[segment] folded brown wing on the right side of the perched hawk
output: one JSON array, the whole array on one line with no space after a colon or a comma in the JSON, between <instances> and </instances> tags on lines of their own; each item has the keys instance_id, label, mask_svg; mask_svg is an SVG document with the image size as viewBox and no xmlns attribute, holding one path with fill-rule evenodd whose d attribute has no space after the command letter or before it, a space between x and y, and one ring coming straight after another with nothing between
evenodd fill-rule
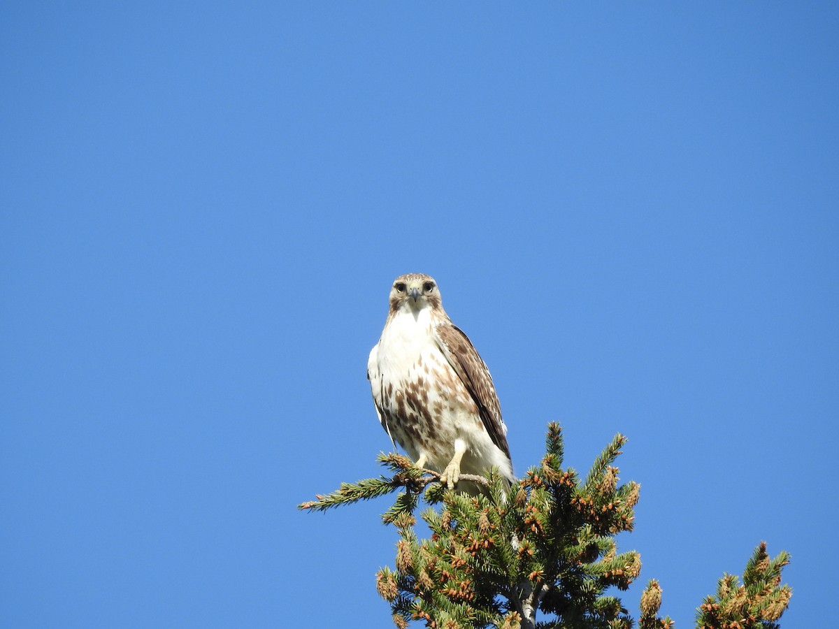
<instances>
[{"instance_id":1,"label":"folded brown wing on the right side of the perched hawk","mask_svg":"<svg viewBox=\"0 0 839 629\"><path fill-rule=\"evenodd\" d=\"M496 444L509 459L507 430L501 419L501 405L498 403L495 387L492 386L492 376L489 375L487 364L481 356L478 356L469 337L451 322L436 325L435 334L440 351L446 356L446 360L475 400L483 426L487 429L492 443Z\"/></svg>"}]
</instances>

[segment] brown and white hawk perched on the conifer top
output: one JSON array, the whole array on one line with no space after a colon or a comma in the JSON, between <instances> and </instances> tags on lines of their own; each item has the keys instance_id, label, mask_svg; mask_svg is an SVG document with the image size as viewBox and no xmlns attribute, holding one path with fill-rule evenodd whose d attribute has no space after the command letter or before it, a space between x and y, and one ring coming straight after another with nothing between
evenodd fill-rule
<instances>
[{"instance_id":1,"label":"brown and white hawk perched on the conifer top","mask_svg":"<svg viewBox=\"0 0 839 629\"><path fill-rule=\"evenodd\" d=\"M487 365L451 323L434 278L400 275L367 378L383 428L419 467L451 488L464 474L498 467L510 483L507 427ZM473 483L460 489L475 493Z\"/></svg>"}]
</instances>

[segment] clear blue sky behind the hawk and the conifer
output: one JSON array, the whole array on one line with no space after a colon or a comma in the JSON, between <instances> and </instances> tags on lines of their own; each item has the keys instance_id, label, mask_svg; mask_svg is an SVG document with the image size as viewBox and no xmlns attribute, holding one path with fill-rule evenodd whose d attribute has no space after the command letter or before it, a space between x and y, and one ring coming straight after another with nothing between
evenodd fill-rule
<instances>
[{"instance_id":1,"label":"clear blue sky behind the hawk and the conifer","mask_svg":"<svg viewBox=\"0 0 839 629\"><path fill-rule=\"evenodd\" d=\"M515 470L617 432L677 627L836 563L835 3L0 8L0 626L390 626L365 378L440 283ZM830 590L828 590L830 588ZM640 590L625 595L637 610Z\"/></svg>"}]
</instances>

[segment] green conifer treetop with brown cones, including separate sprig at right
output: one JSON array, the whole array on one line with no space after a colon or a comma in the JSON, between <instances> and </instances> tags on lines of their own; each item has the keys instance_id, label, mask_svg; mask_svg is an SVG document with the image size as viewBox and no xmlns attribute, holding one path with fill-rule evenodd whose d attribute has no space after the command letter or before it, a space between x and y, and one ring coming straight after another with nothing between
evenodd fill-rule
<instances>
[{"instance_id":1,"label":"green conifer treetop with brown cones, including separate sprig at right","mask_svg":"<svg viewBox=\"0 0 839 629\"><path fill-rule=\"evenodd\" d=\"M631 629L633 617L612 586L626 590L638 577L636 551L618 552L615 537L631 531L639 486L618 482L612 463L626 439L616 435L585 477L564 468L558 424L549 424L541 464L513 486L494 472L488 478L461 475L482 493L448 490L439 475L422 470L402 455L379 455L392 473L342 483L300 508L331 507L398 492L383 522L399 533L395 569L376 574L376 589L391 607L399 629L420 621L435 629ZM430 537L420 539L416 513ZM780 585L789 563L783 551L769 558L766 544L755 549L743 584L726 574L715 595L697 609L701 629L774 629L789 605L792 590ZM638 629L670 627L659 616L662 590L649 580L640 600ZM537 611L539 617L537 618Z\"/></svg>"}]
</instances>

